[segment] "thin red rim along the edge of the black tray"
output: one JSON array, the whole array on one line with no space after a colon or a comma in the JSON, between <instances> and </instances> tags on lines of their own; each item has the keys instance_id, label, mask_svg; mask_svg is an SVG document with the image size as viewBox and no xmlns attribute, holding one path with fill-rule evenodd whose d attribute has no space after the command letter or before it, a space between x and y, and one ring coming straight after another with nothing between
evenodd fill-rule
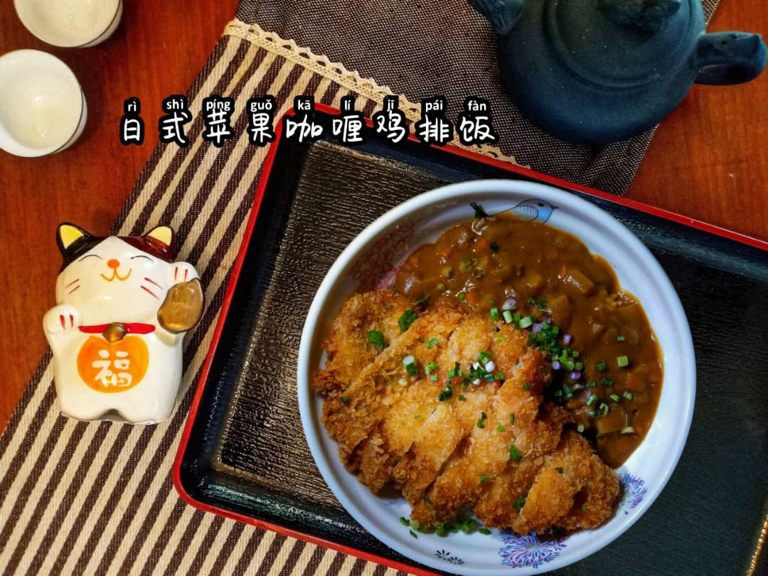
<instances>
[{"instance_id":1,"label":"thin red rim along the edge of the black tray","mask_svg":"<svg viewBox=\"0 0 768 576\"><path fill-rule=\"evenodd\" d=\"M340 114L340 111L338 109L331 108L329 106L326 106L325 104L320 104L320 103L315 104L315 109L316 111L324 112L326 114ZM297 538L299 540L310 542L311 544L323 546L324 548L330 548L331 550L343 552L344 554L349 554L357 558L362 558L363 560L376 562L377 564L383 564L385 566L388 566L389 568L395 568L396 570L406 571L406 572L409 572L410 574L418 574L419 576L435 576L435 572L425 571L421 568L414 568L412 566L409 566L408 564L402 564L401 562L393 561L393 560L390 560L389 558L382 558L381 556L376 556L376 554L370 554L369 552L358 550L357 548L350 548L349 546L340 545L336 542L329 541L324 538L317 538L316 536L306 534L305 532L300 532L300 531L292 530L290 528L285 528L283 526L275 525L270 522L259 520L257 518L251 518L250 516L238 514L237 512L230 511L225 508L219 508L217 506L206 504L204 502L198 502L197 500L192 498L192 496L190 496L189 493L187 493L187 491L184 489L184 486L181 485L181 478L180 478L181 461L184 458L184 452L186 452L187 450L187 442L189 441L189 437L192 432L192 427L194 425L194 420L195 420L195 417L197 416L197 409L200 407L200 399L202 399L203 397L203 390L207 384L208 375L210 371L210 364L213 361L214 355L216 354L216 351L217 351L218 343L221 337L221 333L223 332L224 323L227 319L227 313L229 312L230 303L232 301L235 286L237 286L237 279L240 276L240 270L242 269L242 266L243 266L243 260L245 260L245 254L248 250L248 245L250 243L250 237L253 234L253 227L255 227L256 225L256 220L259 215L261 201L263 200L264 192L266 190L266 185L270 178L272 164L274 162L277 149L281 141L281 136L283 133L283 118L285 118L286 116L293 116L293 108L287 111L286 114L283 114L283 117L280 118L280 121L277 122L275 127L275 135L276 135L275 142L271 144L270 151L267 153L266 158L264 160L264 164L261 170L261 175L259 177L259 183L256 189L256 194L253 196L253 206L251 207L251 210L250 210L250 217L248 219L247 228L245 230L245 233L243 234L243 241L240 244L240 250L237 253L237 259L235 260L232 267L232 274L230 276L229 284L227 285L227 292L224 294L223 303L221 304L221 311L219 314L219 320L217 322L216 329L214 331L214 337L213 337L213 340L211 341L210 349L208 350L208 354L203 364L203 368L200 371L200 378L198 379L198 382L197 382L197 390L195 391L194 399L192 400L192 405L190 406L190 413L189 415L187 415L187 422L184 425L184 434L181 436L181 442L179 444L179 449L177 451L176 459L174 461L174 467L171 470L171 476L174 481L174 486L177 492L179 493L179 495L181 496L181 498L184 500L184 502L187 502L187 504L192 505L195 508L198 508L200 510L213 512L214 514L224 516L226 518L232 518L233 520L245 522L246 524L256 526L257 528L271 530L278 534L290 536L291 538ZM366 118L366 124L369 127L373 126L372 121L369 118ZM409 134L409 140L418 142L418 140L413 134ZM630 207L630 208L633 208L634 210L645 212L646 214L652 214L653 216L661 217L666 220L672 220L673 222L698 228L699 230L703 230L705 232L712 233L717 236L729 238L730 240L736 240L737 242L748 244L750 246L760 248L761 250L768 250L768 242L764 242L763 240L746 236L745 234L733 232L733 230L727 230L726 228L717 227L717 226L714 226L713 224L702 222L701 220L685 217L681 214L670 212L669 210L664 210L662 208L650 206L649 204L643 204L642 202L638 202L637 200L630 200L628 198L615 196L614 194L608 194L607 192L603 192L601 190L596 190L594 188L581 186L580 184L574 184L573 182L569 182L568 180L563 180L558 177L549 176L548 174L542 174L541 172L531 170L530 168L521 167L516 164L510 164L506 161L498 160L496 158L483 156L482 154L477 154L475 152L468 151L464 148L452 146L450 144L443 147L435 146L435 148L437 148L438 150L449 152L450 154L455 154L457 156L467 158L468 160L482 162L482 164L489 164L493 167L498 167L498 168L501 168L502 170L507 170L508 172L511 172L513 174L520 174L521 176L531 177L532 179L537 180L539 182L544 182L546 184L551 184L556 187L561 187L561 188L566 188L568 190L581 192L581 194L587 194L588 196L601 198L602 200L607 200L609 202L613 202L614 204L620 204L621 206Z\"/></svg>"}]
</instances>

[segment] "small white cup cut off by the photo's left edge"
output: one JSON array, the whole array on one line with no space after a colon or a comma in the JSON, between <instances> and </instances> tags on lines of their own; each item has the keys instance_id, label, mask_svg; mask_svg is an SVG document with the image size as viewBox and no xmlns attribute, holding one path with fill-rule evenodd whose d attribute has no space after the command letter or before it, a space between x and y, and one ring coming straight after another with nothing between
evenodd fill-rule
<instances>
[{"instance_id":1,"label":"small white cup cut off by the photo's left edge","mask_svg":"<svg viewBox=\"0 0 768 576\"><path fill-rule=\"evenodd\" d=\"M0 148L54 154L78 139L87 117L78 79L64 62L39 50L0 56Z\"/></svg>"}]
</instances>

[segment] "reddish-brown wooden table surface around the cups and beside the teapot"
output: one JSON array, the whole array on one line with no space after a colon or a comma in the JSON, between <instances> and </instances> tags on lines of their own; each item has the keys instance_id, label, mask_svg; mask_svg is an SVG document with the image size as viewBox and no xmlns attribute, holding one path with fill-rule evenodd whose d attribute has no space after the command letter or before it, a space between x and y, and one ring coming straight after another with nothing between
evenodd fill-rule
<instances>
[{"instance_id":1,"label":"reddish-brown wooden table surface around the cups and beside the teapot","mask_svg":"<svg viewBox=\"0 0 768 576\"><path fill-rule=\"evenodd\" d=\"M237 0L183 7L128 0L106 43L65 50L29 34L10 0L0 5L0 54L57 55L80 79L89 108L68 151L31 159L0 151L0 430L45 352L41 319L55 303L58 223L108 233L157 144L162 99L187 90L236 7ZM768 36L762 0L723 0L710 31L723 30ZM122 102L131 96L140 98L147 127L141 147L118 141ZM742 86L696 86L661 124L627 197L768 240L766 142L768 73Z\"/></svg>"}]
</instances>

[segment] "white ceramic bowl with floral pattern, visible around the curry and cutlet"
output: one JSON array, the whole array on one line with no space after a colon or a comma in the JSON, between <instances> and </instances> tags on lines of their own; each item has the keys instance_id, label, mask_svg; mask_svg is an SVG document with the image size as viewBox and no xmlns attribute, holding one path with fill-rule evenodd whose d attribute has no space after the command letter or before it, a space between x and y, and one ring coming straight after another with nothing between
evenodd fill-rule
<instances>
[{"instance_id":1,"label":"white ceramic bowl with floral pattern, visible around the curry and cutlet","mask_svg":"<svg viewBox=\"0 0 768 576\"><path fill-rule=\"evenodd\" d=\"M535 199L536 202L527 202ZM399 518L409 516L402 498L379 498L346 471L320 416L322 400L310 388L313 372L323 361L321 345L329 324L360 281L379 286L422 243L435 240L453 223L472 218L471 202L488 214L520 203L535 208L548 224L580 238L604 257L621 286L640 300L664 355L664 382L656 417L646 438L617 470L624 488L613 518L601 528L578 531L558 540L535 535L455 534L412 538ZM524 205L525 205L524 204ZM558 207L554 211L548 206ZM383 257L382 257L383 255ZM298 365L298 394L307 442L329 487L349 514L389 547L414 561L458 574L538 574L562 568L613 541L650 507L670 478L694 412L696 369L687 319L670 280L646 247L626 227L593 204L573 194L517 180L475 180L432 190L400 204L362 231L333 264L304 326ZM626 538L631 538L631 534ZM607 571L610 567L606 566Z\"/></svg>"}]
</instances>

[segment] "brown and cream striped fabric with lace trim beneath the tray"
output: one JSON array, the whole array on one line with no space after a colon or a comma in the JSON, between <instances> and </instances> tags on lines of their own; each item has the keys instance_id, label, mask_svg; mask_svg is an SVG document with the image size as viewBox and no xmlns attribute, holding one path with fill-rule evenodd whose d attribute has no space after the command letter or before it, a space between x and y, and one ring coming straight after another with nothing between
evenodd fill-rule
<instances>
[{"instance_id":1,"label":"brown and cream striped fabric with lace trim beneath the tray","mask_svg":"<svg viewBox=\"0 0 768 576\"><path fill-rule=\"evenodd\" d=\"M210 94L235 99L235 137L200 137ZM257 26L232 22L187 94L190 145L159 145L114 233L157 223L178 231L207 308L184 349L186 390L161 425L76 422L58 411L48 353L0 438L2 574L396 574L383 566L198 511L174 491L170 468L200 365L240 248L266 148L248 143L248 98L273 94L280 114L297 94L372 114L391 94ZM413 118L416 108L401 100ZM488 154L498 156L492 150Z\"/></svg>"}]
</instances>

